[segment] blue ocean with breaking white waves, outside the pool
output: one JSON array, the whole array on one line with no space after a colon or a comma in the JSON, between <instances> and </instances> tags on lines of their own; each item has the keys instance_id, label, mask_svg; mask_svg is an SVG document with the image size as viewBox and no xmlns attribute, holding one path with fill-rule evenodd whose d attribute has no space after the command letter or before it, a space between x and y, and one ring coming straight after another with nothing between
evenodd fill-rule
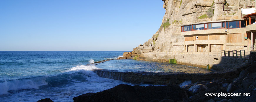
<instances>
[{"instance_id":1,"label":"blue ocean with breaking white waves, outside the pool","mask_svg":"<svg viewBox=\"0 0 256 102\"><path fill-rule=\"evenodd\" d=\"M35 102L73 97L130 83L101 78L87 66L116 59L124 51L0 51L0 100Z\"/></svg>"}]
</instances>

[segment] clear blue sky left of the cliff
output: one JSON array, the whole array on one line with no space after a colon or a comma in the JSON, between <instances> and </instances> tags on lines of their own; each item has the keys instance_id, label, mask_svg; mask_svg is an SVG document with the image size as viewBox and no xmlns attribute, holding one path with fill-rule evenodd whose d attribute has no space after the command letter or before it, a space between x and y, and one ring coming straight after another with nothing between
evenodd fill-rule
<instances>
[{"instance_id":1,"label":"clear blue sky left of the cliff","mask_svg":"<svg viewBox=\"0 0 256 102\"><path fill-rule=\"evenodd\" d=\"M132 51L159 29L162 0L0 0L0 51Z\"/></svg>"}]
</instances>

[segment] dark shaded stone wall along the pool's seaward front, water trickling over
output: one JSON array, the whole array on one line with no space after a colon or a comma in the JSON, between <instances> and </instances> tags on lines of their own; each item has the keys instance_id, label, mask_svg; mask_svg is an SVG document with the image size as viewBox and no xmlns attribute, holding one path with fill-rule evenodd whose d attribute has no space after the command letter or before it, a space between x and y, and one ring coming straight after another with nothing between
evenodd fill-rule
<instances>
[{"instance_id":1,"label":"dark shaded stone wall along the pool's seaward front, water trickling over","mask_svg":"<svg viewBox=\"0 0 256 102\"><path fill-rule=\"evenodd\" d=\"M235 78L239 75L241 69L225 71L221 73L152 73L152 72L119 72L112 70L94 70L100 77L134 84L154 84L154 85L179 85L180 83L191 80L197 81L212 80L214 78Z\"/></svg>"}]
</instances>

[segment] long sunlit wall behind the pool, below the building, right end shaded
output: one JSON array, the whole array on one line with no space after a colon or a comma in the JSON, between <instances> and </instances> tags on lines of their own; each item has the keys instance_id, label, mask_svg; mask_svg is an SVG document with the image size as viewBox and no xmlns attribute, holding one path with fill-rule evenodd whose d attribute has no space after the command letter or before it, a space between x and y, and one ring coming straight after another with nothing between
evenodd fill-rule
<instances>
[{"instance_id":1,"label":"long sunlit wall behind the pool, below the building, right end shaded","mask_svg":"<svg viewBox=\"0 0 256 102\"><path fill-rule=\"evenodd\" d=\"M207 68L221 71L227 68L235 68L237 66L245 65L248 59L245 58L233 58L223 56L200 56L200 55L185 55L185 54L152 54L141 53L138 54L136 60L143 61L157 61L157 62L169 62L170 59L176 59L177 64L194 66L199 68Z\"/></svg>"}]
</instances>

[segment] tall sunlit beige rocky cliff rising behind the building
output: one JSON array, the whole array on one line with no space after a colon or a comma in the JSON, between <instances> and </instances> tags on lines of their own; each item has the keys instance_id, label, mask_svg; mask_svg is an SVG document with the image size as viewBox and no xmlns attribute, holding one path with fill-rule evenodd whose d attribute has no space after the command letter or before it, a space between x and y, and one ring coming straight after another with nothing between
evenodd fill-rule
<instances>
[{"instance_id":1,"label":"tall sunlit beige rocky cliff rising behind the building","mask_svg":"<svg viewBox=\"0 0 256 102\"><path fill-rule=\"evenodd\" d=\"M184 36L180 25L197 22L240 19L240 8L253 8L255 0L162 0L166 10L158 31L143 45L125 52L131 59L139 53L157 53L184 50ZM232 11L232 12L231 12Z\"/></svg>"}]
</instances>

